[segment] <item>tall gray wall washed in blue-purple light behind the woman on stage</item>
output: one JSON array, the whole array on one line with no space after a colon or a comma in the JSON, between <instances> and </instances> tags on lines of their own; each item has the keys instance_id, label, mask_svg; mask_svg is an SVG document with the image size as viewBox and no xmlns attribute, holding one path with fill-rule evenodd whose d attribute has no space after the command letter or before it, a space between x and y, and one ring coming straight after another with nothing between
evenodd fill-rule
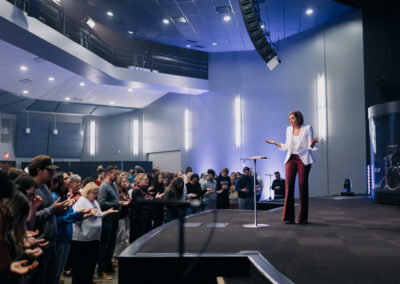
<instances>
[{"instance_id":1,"label":"tall gray wall washed in blue-purple light behind the woman on stage","mask_svg":"<svg viewBox=\"0 0 400 284\"><path fill-rule=\"evenodd\" d=\"M210 92L169 94L143 110L143 154L182 150L182 168L241 171L241 157L267 155L263 176L284 172L285 153L263 142L283 142L288 113L299 109L317 134L317 77L326 76L327 137L318 145L310 195L342 191L345 177L366 192L362 19L356 13L280 43L282 64L269 71L254 52L211 54ZM242 147L235 147L234 98L242 97ZM184 109L191 111L191 149L184 151ZM251 165L247 163L247 165ZM267 183L268 184L268 183Z\"/></svg>"}]
</instances>

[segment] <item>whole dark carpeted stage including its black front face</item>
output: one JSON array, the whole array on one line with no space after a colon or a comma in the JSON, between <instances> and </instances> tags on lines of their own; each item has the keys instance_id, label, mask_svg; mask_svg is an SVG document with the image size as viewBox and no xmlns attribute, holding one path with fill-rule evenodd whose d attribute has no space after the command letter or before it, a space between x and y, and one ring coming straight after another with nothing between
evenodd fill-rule
<instances>
[{"instance_id":1,"label":"whole dark carpeted stage including its black front face","mask_svg":"<svg viewBox=\"0 0 400 284\"><path fill-rule=\"evenodd\" d=\"M166 224L121 254L120 283L174 282L169 274L183 274L193 263L213 222L227 226L215 228L204 257L191 269L197 276L185 283L215 276L224 276L218 283L267 283L264 276L272 283L399 283L398 207L360 196L311 198L308 225L283 224L281 211L258 211L258 222L270 226L257 229L242 226L254 222L253 211L218 210L217 220L212 212L190 216L185 261L177 255L178 223ZM210 278L200 281L199 275Z\"/></svg>"}]
</instances>

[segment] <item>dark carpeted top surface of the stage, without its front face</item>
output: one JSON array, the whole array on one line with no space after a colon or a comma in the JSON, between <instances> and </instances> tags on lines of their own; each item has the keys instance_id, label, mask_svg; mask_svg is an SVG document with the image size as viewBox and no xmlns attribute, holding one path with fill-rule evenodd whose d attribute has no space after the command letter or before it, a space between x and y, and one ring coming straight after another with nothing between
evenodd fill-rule
<instances>
[{"instance_id":1,"label":"dark carpeted top surface of the stage, without its front face","mask_svg":"<svg viewBox=\"0 0 400 284\"><path fill-rule=\"evenodd\" d=\"M228 225L215 229L206 253L259 251L295 283L399 283L399 207L373 204L367 197L311 198L308 225L283 224L281 212L258 211L258 222L270 226L244 228L254 222L253 211L218 210L216 222ZM214 215L204 212L186 222L202 223L185 228L185 252L195 254L212 230L207 225L215 222ZM139 239L123 255L176 253L177 239L174 222Z\"/></svg>"}]
</instances>

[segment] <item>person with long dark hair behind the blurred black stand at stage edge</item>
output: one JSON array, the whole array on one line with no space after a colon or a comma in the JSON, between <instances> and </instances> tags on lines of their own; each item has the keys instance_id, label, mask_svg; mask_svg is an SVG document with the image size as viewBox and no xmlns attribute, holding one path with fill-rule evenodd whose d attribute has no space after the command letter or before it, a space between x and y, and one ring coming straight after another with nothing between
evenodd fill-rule
<instances>
[{"instance_id":1,"label":"person with long dark hair behind the blurred black stand at stage edge","mask_svg":"<svg viewBox=\"0 0 400 284\"><path fill-rule=\"evenodd\" d=\"M169 187L165 190L165 200L182 201L183 200L183 186L185 183L181 177L175 177ZM165 207L165 223L168 223L181 214L185 214L185 208Z\"/></svg>"}]
</instances>

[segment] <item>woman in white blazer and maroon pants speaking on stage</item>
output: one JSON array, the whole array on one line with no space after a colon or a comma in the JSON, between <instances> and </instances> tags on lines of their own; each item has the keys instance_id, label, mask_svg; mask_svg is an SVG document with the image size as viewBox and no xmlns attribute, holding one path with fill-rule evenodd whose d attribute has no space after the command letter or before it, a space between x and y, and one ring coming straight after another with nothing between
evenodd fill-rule
<instances>
[{"instance_id":1,"label":"woman in white blazer and maroon pants speaking on stage","mask_svg":"<svg viewBox=\"0 0 400 284\"><path fill-rule=\"evenodd\" d=\"M285 158L286 197L282 212L282 221L285 224L294 223L294 183L297 173L299 174L300 190L300 212L297 223L307 224L308 222L308 175L311 164L315 161L311 151L316 150L314 146L319 139L313 137L312 127L303 125L303 122L302 113L298 110L292 111L289 113L290 126L286 129L286 143L264 140L268 144L279 147L281 151L287 151Z\"/></svg>"}]
</instances>

